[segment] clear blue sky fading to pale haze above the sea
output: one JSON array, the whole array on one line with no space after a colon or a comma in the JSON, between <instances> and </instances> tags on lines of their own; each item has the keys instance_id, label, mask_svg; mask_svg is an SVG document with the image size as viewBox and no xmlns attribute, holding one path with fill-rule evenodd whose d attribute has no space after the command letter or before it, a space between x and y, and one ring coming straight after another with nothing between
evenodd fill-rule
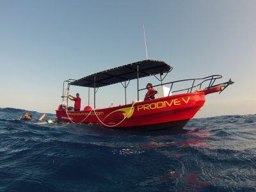
<instances>
[{"instance_id":1,"label":"clear blue sky fading to pale haze above the sea","mask_svg":"<svg viewBox=\"0 0 256 192\"><path fill-rule=\"evenodd\" d=\"M254 0L0 0L0 108L55 113L63 81L146 60L144 25L148 59L173 67L166 82L214 74L236 82L206 95L196 118L255 114L255 10ZM140 88L148 82L157 83L144 78ZM83 108L88 88L70 87L77 92ZM131 81L127 102L136 97ZM96 100L124 104L122 84L99 88Z\"/></svg>"}]
</instances>

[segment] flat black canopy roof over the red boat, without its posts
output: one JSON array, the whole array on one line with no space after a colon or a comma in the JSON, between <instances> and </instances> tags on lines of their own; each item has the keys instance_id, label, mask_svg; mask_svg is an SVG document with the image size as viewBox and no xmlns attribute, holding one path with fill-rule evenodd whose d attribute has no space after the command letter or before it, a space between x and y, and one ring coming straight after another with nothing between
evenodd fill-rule
<instances>
[{"instance_id":1,"label":"flat black canopy roof over the red boat, without its posts","mask_svg":"<svg viewBox=\"0 0 256 192\"><path fill-rule=\"evenodd\" d=\"M78 79L70 84L76 86L85 86L94 88L99 88L101 86L106 86L109 84L120 83L124 81L129 81L132 79L137 79L141 77L152 76L155 74L160 74L168 72L172 69L170 65L164 63L164 61L156 60L145 60L138 61L136 63L131 63L123 65L121 67L111 68L109 70L104 70L90 76ZM138 70L138 74L137 74Z\"/></svg>"}]
</instances>

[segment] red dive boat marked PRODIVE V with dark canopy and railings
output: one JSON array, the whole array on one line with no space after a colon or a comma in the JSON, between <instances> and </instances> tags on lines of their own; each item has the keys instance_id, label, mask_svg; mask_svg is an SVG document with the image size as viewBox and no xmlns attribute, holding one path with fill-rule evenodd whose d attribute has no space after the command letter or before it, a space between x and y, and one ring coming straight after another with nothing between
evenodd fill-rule
<instances>
[{"instance_id":1,"label":"red dive boat marked PRODIVE V with dark canopy and railings","mask_svg":"<svg viewBox=\"0 0 256 192\"><path fill-rule=\"evenodd\" d=\"M100 125L113 129L150 131L157 129L182 128L197 111L204 106L205 95L221 93L228 82L215 84L222 76L213 75L201 79L183 79L163 83L166 75L172 70L164 61L145 60L111 68L83 77L78 80L68 79L63 82L62 104L56 110L56 116L64 122ZM157 77L159 75L159 77ZM139 88L140 78L155 76L161 83L154 86L158 91L156 99L126 104L126 88L132 79L137 81L137 99L139 93L146 88ZM174 90L179 84L189 83L189 87ZM125 89L125 104L113 108L95 108L95 94L98 88L110 84L122 83ZM86 106L83 111L72 111L68 108L68 90L72 86L84 86L94 90L94 108ZM65 86L67 92L65 93ZM144 95L143 95L144 96Z\"/></svg>"}]
</instances>

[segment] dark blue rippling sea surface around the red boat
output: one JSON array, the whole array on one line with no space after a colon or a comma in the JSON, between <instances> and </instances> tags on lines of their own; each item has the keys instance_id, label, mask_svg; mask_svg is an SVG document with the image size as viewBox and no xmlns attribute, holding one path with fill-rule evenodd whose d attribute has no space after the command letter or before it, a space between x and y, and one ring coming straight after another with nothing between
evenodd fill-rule
<instances>
[{"instance_id":1,"label":"dark blue rippling sea surface around the red boat","mask_svg":"<svg viewBox=\"0 0 256 192\"><path fill-rule=\"evenodd\" d=\"M0 108L0 191L256 191L256 115L131 132L25 112Z\"/></svg>"}]
</instances>

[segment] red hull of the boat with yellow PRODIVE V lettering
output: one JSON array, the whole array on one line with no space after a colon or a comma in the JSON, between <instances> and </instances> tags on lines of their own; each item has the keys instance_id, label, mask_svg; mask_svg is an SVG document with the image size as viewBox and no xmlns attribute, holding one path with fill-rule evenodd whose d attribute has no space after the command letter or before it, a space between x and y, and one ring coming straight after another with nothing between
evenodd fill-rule
<instances>
[{"instance_id":1,"label":"red hull of the boat with yellow PRODIVE V lettering","mask_svg":"<svg viewBox=\"0 0 256 192\"><path fill-rule=\"evenodd\" d=\"M64 122L148 131L184 127L204 102L205 92L201 91L137 102L133 106L127 104L92 111L56 110L56 115Z\"/></svg>"}]
</instances>

